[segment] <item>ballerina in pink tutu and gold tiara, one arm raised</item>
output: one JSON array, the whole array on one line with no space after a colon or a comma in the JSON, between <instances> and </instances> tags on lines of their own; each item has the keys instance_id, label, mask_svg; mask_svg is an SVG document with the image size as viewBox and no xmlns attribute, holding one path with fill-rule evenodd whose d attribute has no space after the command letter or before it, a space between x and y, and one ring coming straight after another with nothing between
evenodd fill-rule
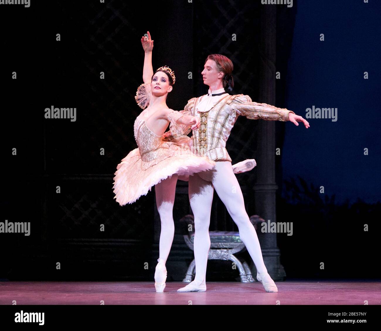
<instances>
[{"instance_id":1,"label":"ballerina in pink tutu and gold tiara, one arm raised","mask_svg":"<svg viewBox=\"0 0 381 331\"><path fill-rule=\"evenodd\" d=\"M149 32L148 32L149 35ZM197 129L200 120L168 108L166 98L173 89L175 76L169 67L152 70L153 40L141 39L145 51L143 81L136 92L136 102L144 109L134 122L134 137L138 148L132 150L117 166L114 173L114 193L121 205L135 202L147 195L155 185L157 210L160 215L161 232L159 259L155 269L155 288L163 292L166 281L165 262L174 236L173 203L179 176L212 169L215 162L207 157L193 154L187 144L187 136L173 141L162 139L168 124ZM170 126L171 127L171 126Z\"/></svg>"}]
</instances>

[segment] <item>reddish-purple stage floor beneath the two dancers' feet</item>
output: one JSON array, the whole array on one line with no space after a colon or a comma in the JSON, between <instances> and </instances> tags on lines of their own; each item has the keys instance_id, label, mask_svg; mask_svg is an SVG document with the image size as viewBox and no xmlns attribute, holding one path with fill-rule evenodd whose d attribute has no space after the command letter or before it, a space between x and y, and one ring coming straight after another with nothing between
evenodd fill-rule
<instances>
[{"instance_id":1,"label":"reddish-purple stage floor beneath the two dancers' feet","mask_svg":"<svg viewBox=\"0 0 381 331\"><path fill-rule=\"evenodd\" d=\"M379 281L296 280L276 282L278 293L261 283L207 282L206 292L178 293L187 283L167 282L156 293L146 281L0 281L0 304L11 305L369 305L381 304Z\"/></svg>"}]
</instances>

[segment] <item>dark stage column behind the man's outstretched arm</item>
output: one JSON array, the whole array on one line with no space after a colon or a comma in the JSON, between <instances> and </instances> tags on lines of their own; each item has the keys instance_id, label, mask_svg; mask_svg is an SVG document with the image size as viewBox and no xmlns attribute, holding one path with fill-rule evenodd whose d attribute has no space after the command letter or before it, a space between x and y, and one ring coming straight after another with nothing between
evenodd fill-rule
<instances>
[{"instance_id":1,"label":"dark stage column behind the man's outstretched arm","mask_svg":"<svg viewBox=\"0 0 381 331\"><path fill-rule=\"evenodd\" d=\"M261 40L259 44L259 100L267 104L275 104L275 60L276 60L276 16L277 6L262 6ZM258 149L256 154L257 179L254 185L255 213L267 222L276 222L275 213L275 121L258 123ZM263 260L267 271L274 280L284 280L286 276L280 264L280 251L277 246L276 233L262 233L257 230ZM253 275L256 276L252 264Z\"/></svg>"}]
</instances>

